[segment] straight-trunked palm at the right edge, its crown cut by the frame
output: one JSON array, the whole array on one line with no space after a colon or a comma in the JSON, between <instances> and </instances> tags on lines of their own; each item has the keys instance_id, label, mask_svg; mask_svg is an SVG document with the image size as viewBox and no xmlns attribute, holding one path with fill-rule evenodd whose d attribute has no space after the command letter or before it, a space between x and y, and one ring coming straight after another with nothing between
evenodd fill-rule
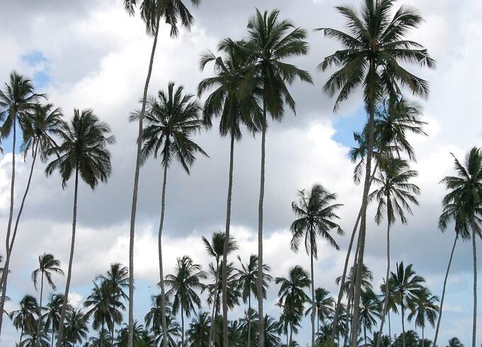
<instances>
[{"instance_id":1,"label":"straight-trunked palm at the right edge, its crown cut by the frame","mask_svg":"<svg viewBox=\"0 0 482 347\"><path fill-rule=\"evenodd\" d=\"M452 157L454 155L452 154ZM474 319L472 326L472 347L476 346L477 331L477 251L476 237L482 238L482 152L474 147L466 154L464 164L454 157L457 176L442 179L449 193L442 200L443 205L454 204L460 210L459 220L469 224L472 233L472 256L474 260ZM457 226L457 221L456 221Z\"/></svg>"}]
</instances>

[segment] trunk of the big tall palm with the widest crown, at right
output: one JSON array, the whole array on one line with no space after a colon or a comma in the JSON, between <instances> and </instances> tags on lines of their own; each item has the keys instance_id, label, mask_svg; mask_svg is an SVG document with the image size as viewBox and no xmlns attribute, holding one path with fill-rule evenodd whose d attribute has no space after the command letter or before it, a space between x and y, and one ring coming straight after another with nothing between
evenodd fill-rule
<instances>
[{"instance_id":1,"label":"trunk of the big tall palm with the widest crown, at right","mask_svg":"<svg viewBox=\"0 0 482 347\"><path fill-rule=\"evenodd\" d=\"M373 73L373 67L371 67ZM367 166L365 172L372 172L372 154L373 154L373 128L374 128L374 98L369 104L369 121L368 121L368 150L367 150ZM353 321L352 326L358 326L360 322L360 293L362 290L362 270L363 256L365 254L365 234L367 232L367 205L368 193L370 188L370 176L365 174L365 186L363 187L362 197L362 217L360 222L360 235L358 237L358 259L357 269L355 271L355 296L353 297ZM358 275L360 274L360 275ZM351 346L357 347L358 330L352 329Z\"/></svg>"}]
</instances>

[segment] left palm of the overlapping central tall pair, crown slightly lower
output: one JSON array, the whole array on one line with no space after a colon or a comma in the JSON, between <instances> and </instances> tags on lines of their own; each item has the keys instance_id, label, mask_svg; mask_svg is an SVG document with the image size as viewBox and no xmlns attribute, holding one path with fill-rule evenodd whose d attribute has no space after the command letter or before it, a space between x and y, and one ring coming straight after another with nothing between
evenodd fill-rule
<instances>
[{"instance_id":1,"label":"left palm of the overlapping central tall pair, crown slightly lower","mask_svg":"<svg viewBox=\"0 0 482 347\"><path fill-rule=\"evenodd\" d=\"M226 198L226 227L227 238L224 239L224 253L222 258L222 287L223 287L223 329L226 331L227 339L227 307L224 304L227 290L227 256L229 254L229 238L231 228L231 198L233 189L233 167L234 167L234 142L241 141L242 130L245 126L254 134L259 128L260 107L258 106L259 91L255 90L242 96L241 87L243 80L246 79L248 59L246 52L240 50L236 45L225 45L229 40L224 40L220 44L220 49L224 51L224 56L216 57L212 52L205 52L200 59L200 68L205 69L206 65L212 62L216 76L203 79L197 86L197 96L208 89L215 88L210 96L207 97L203 109L203 119L207 127L212 127L213 118L219 117L219 135L230 137L229 147L229 174L228 192ZM214 329L214 324L211 324ZM226 343L226 341L224 341ZM212 334L210 334L210 346Z\"/></svg>"}]
</instances>

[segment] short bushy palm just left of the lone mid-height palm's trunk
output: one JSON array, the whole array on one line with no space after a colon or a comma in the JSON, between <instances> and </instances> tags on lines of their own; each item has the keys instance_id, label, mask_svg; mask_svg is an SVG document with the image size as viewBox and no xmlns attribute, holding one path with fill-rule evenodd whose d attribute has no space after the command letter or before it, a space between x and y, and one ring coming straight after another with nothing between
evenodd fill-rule
<instances>
[{"instance_id":1,"label":"short bushy palm just left of the lone mid-height palm's trunk","mask_svg":"<svg viewBox=\"0 0 482 347\"><path fill-rule=\"evenodd\" d=\"M289 346L292 346L294 326L299 324L303 316L304 303L309 302L309 296L304 288L309 288L310 279L308 273L301 266L289 269L288 278L277 277L276 284L280 284L280 297L278 305L283 307L283 314L289 324Z\"/></svg>"}]
</instances>

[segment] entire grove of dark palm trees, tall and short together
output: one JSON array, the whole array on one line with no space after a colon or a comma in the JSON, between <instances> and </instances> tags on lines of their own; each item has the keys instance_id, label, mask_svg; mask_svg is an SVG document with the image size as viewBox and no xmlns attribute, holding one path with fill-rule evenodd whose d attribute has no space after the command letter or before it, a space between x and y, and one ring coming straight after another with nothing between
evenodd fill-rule
<instances>
[{"instance_id":1,"label":"entire grove of dark palm trees, tall and short together","mask_svg":"<svg viewBox=\"0 0 482 347\"><path fill-rule=\"evenodd\" d=\"M194 6L200 1L191 0ZM265 183L265 144L269 120L282 121L285 112L296 110L291 84L300 80L313 84L309 72L290 64L292 57L306 55L307 32L280 11L256 10L248 20L241 39L226 38L218 51L200 56L200 69L212 69L212 76L200 81L197 91L188 93L183 86L169 82L166 89L150 96L159 27L166 23L171 37L180 26L190 29L193 15L180 0L125 0L130 15L139 15L146 33L152 38L149 70L139 110L130 120L138 124L137 158L134 170L130 221L130 261L128 267L113 263L93 280L84 307L69 305L69 285L76 241L76 211L79 184L95 190L110 176L109 147L115 143L110 127L91 109L74 110L64 120L60 108L37 93L26 76L12 72L0 92L0 136L11 142L11 194L6 251L1 269L0 329L11 319L19 331L18 346L299 346L295 341L303 317L311 323L311 346L436 346L447 289L447 278L457 241L471 241L474 257L474 319L472 346L476 341L476 238L482 237L482 152L474 147L464 161L454 157L454 176L442 179L447 195L439 227L454 230L447 273L440 297L425 286L425 279L408 263L391 262L391 228L406 224L418 205L420 189L413 183L418 175L411 169L415 152L409 136L425 135L421 106L409 96L427 98L428 82L415 76L406 65L434 68L435 62L418 42L406 40L409 31L423 21L409 6L396 7L392 0L365 0L361 8L337 6L346 20L345 31L318 28L325 37L336 40L340 49L325 57L319 68L330 76L323 92L335 97L334 112L343 101L362 91L367 122L354 133L357 146L350 151L355 163L355 183L363 182L360 210L345 257L343 273L336 279L339 292L315 288L314 262L320 243L338 250L345 234L339 226L338 210L343 205L337 195L321 183L297 192L292 203L291 249L306 251L310 267L294 266L281 277L271 275L263 261L263 207ZM159 86L156 86L159 87ZM203 98L203 103L198 98ZM195 159L208 154L194 136L218 127L219 135L229 137L228 187L226 188L226 225L224 231L203 237L207 255L212 259L203 269L190 256L180 256L176 267L165 275L162 254L163 222L168 203L168 174L180 165L188 174ZM231 235L231 198L234 180L235 149L243 132L260 137L260 190L258 205L258 251L248 259L233 256L240 245ZM20 140L18 140L20 138ZM20 153L16 153L19 150ZM16 154L30 157L28 181L20 203L14 194ZM161 213L159 220L159 295L150 298L151 308L144 322L134 320L134 235L137 212L139 171L146 161L159 160ZM69 263L52 254L38 258L32 280L38 297L25 295L18 309L5 312L11 254L21 215L28 207L28 191L37 159L47 163L45 174L58 171L62 188L73 190L73 213ZM36 171L35 171L36 173ZM72 180L70 180L72 178ZM68 186L74 181L73 187ZM296 192L294 192L296 193ZM375 215L367 214L374 205ZM386 275L375 279L364 263L367 218L374 217L386 229ZM66 245L67 246L67 245ZM351 262L350 262L351 261ZM62 292L54 280L66 276ZM57 277L56 277L57 276ZM378 282L377 282L378 281ZM380 283L375 288L376 283ZM279 317L263 312L267 290L278 290ZM206 305L202 298L206 297ZM257 304L257 305L256 305ZM229 319L229 310L245 307L244 317ZM127 314L126 314L127 312ZM401 316L401 326L391 317ZM127 316L125 319L125 316ZM232 317L231 317L232 318ZM435 327L433 339L426 339L425 327ZM392 331L396 331L392 333ZM1 333L1 331L0 331ZM432 337L432 336L430 336ZM449 346L461 346L457 338Z\"/></svg>"}]
</instances>

